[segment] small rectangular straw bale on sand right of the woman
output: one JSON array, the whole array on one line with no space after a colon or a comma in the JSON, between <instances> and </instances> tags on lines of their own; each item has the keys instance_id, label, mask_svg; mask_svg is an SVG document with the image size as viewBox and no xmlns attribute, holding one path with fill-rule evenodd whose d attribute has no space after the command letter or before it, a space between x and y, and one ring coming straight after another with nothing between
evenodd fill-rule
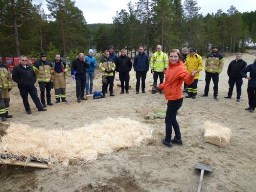
<instances>
[{"instance_id":1,"label":"small rectangular straw bale on sand right of the woman","mask_svg":"<svg viewBox=\"0 0 256 192\"><path fill-rule=\"evenodd\" d=\"M231 129L212 122L205 122L203 126L204 141L220 147L227 147L230 144Z\"/></svg>"}]
</instances>

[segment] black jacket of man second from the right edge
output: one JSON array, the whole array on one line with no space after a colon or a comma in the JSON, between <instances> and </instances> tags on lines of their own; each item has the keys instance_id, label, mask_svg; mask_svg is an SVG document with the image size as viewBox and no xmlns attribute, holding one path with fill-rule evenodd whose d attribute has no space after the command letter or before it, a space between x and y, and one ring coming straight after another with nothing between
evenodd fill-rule
<instances>
[{"instance_id":1,"label":"black jacket of man second from the right edge","mask_svg":"<svg viewBox=\"0 0 256 192\"><path fill-rule=\"evenodd\" d=\"M247 63L242 59L238 61L233 60L228 67L228 76L233 79L242 78L241 72L246 66Z\"/></svg>"}]
</instances>

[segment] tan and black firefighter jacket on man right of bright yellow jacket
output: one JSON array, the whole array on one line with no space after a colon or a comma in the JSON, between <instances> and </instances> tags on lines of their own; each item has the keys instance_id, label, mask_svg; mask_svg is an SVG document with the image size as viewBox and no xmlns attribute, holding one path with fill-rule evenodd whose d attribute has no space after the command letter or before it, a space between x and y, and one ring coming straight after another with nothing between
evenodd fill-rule
<instances>
[{"instance_id":1,"label":"tan and black firefighter jacket on man right of bright yellow jacket","mask_svg":"<svg viewBox=\"0 0 256 192\"><path fill-rule=\"evenodd\" d=\"M223 56L217 52L216 55L211 52L205 61L205 72L221 73L224 66Z\"/></svg>"}]
</instances>

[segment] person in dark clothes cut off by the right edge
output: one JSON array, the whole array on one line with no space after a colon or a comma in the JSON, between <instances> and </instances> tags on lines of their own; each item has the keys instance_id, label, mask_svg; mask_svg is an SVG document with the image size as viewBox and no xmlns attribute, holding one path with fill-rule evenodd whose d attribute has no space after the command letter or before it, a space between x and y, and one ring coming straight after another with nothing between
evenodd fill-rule
<instances>
[{"instance_id":1,"label":"person in dark clothes cut off by the right edge","mask_svg":"<svg viewBox=\"0 0 256 192\"><path fill-rule=\"evenodd\" d=\"M250 72L249 77L246 75L247 72ZM242 76L249 80L247 87L249 107L245 108L245 110L254 112L256 107L256 59L253 64L249 64L242 70Z\"/></svg>"}]
</instances>

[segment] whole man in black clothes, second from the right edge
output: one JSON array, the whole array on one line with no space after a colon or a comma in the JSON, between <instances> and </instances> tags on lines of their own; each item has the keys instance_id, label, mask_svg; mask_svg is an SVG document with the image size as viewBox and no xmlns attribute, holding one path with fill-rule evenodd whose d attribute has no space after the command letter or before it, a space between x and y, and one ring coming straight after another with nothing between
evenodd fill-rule
<instances>
[{"instance_id":1,"label":"whole man in black clothes, second from the right edge","mask_svg":"<svg viewBox=\"0 0 256 192\"><path fill-rule=\"evenodd\" d=\"M236 53L235 60L233 60L228 67L228 76L229 76L229 92L228 96L224 97L225 99L231 99L233 94L234 84L236 86L236 101L240 102L243 78L241 75L242 70L247 66L247 63L241 59L242 54Z\"/></svg>"}]
</instances>

